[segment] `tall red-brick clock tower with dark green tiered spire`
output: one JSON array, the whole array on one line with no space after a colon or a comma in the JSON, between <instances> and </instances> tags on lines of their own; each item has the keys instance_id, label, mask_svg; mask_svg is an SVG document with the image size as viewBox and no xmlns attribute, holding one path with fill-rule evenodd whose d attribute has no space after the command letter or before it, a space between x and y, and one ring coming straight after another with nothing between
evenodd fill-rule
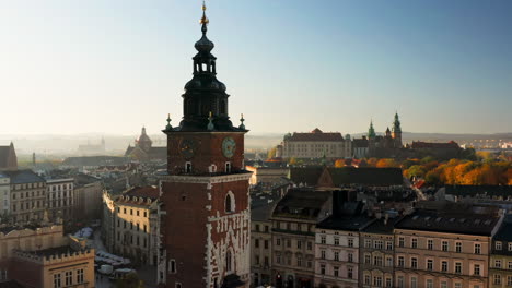
<instances>
[{"instance_id":1,"label":"tall red-brick clock tower with dark green tiered spire","mask_svg":"<svg viewBox=\"0 0 512 288\"><path fill-rule=\"evenodd\" d=\"M161 179L159 283L164 287L248 287L251 211L242 123L228 113L202 5L194 76L183 119L167 119L167 173Z\"/></svg>"}]
</instances>

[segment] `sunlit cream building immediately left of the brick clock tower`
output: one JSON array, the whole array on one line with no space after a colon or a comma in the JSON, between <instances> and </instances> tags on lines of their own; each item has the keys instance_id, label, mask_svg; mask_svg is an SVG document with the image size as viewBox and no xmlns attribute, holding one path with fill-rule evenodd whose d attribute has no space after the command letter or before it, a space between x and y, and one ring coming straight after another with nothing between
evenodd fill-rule
<instances>
[{"instance_id":1,"label":"sunlit cream building immediately left of the brick clock tower","mask_svg":"<svg viewBox=\"0 0 512 288\"><path fill-rule=\"evenodd\" d=\"M136 263L158 264L159 197L156 187L131 188L117 195L104 192L104 240L108 250Z\"/></svg>"}]
</instances>

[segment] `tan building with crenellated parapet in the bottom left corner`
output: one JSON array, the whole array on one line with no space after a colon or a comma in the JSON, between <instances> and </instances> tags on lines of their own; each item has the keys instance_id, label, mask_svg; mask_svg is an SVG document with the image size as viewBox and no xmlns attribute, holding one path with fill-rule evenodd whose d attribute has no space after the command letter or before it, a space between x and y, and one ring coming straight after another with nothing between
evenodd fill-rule
<instances>
[{"instance_id":1,"label":"tan building with crenellated parapet in the bottom left corner","mask_svg":"<svg viewBox=\"0 0 512 288\"><path fill-rule=\"evenodd\" d=\"M0 287L94 287L94 249L62 226L2 227L0 247Z\"/></svg>"}]
</instances>

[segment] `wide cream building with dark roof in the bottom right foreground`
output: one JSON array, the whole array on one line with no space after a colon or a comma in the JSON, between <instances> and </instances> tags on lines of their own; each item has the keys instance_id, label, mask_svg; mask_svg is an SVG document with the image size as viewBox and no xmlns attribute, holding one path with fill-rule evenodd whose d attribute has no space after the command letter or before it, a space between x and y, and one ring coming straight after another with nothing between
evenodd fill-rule
<instances>
[{"instance_id":1,"label":"wide cream building with dark roof in the bottom right foreground","mask_svg":"<svg viewBox=\"0 0 512 288\"><path fill-rule=\"evenodd\" d=\"M485 288L503 215L417 211L395 225L395 287Z\"/></svg>"}]
</instances>

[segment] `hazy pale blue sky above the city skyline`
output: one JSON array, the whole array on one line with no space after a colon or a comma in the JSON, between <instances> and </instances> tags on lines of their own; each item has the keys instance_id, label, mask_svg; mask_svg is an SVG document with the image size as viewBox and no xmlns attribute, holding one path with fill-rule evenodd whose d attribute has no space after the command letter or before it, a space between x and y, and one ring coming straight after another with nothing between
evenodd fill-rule
<instances>
[{"instance_id":1,"label":"hazy pale blue sky above the city skyline","mask_svg":"<svg viewBox=\"0 0 512 288\"><path fill-rule=\"evenodd\" d=\"M512 1L210 0L253 133L512 132ZM0 0L0 134L177 124L199 0Z\"/></svg>"}]
</instances>

